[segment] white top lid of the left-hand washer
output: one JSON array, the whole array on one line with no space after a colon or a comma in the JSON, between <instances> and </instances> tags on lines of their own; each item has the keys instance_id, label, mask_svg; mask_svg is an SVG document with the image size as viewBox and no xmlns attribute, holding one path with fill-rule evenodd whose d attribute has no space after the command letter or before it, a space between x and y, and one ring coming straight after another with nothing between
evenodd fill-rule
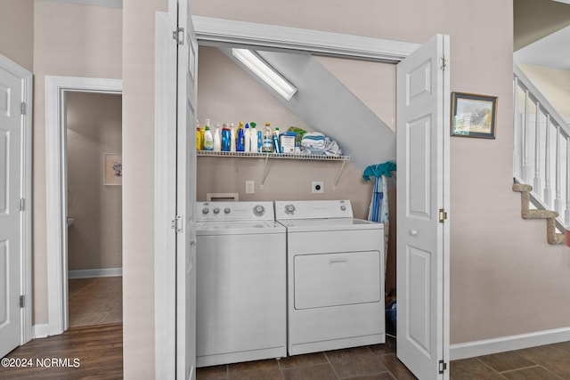
<instances>
[{"instance_id":1,"label":"white top lid of the left-hand washer","mask_svg":"<svg viewBox=\"0 0 570 380\"><path fill-rule=\"evenodd\" d=\"M196 235L241 235L260 233L284 233L285 227L278 222L240 221L240 222L199 222L196 223Z\"/></svg>"}]
</instances>

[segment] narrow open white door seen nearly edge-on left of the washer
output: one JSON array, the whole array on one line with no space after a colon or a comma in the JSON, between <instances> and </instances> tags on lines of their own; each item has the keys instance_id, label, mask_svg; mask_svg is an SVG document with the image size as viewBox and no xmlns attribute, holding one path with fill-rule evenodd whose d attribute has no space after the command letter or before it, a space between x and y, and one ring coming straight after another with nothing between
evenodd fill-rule
<instances>
[{"instance_id":1,"label":"narrow open white door seen nearly edge-on left of the washer","mask_svg":"<svg viewBox=\"0 0 570 380\"><path fill-rule=\"evenodd\" d=\"M198 41L188 0L178 0L176 121L176 378L196 377L196 100Z\"/></svg>"}]
</instances>

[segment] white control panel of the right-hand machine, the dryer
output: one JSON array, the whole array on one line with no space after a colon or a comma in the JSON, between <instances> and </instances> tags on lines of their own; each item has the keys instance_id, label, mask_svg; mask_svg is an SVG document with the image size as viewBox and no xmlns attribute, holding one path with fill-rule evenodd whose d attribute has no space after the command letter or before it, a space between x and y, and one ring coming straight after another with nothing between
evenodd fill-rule
<instances>
[{"instance_id":1,"label":"white control panel of the right-hand machine, the dryer","mask_svg":"<svg viewBox=\"0 0 570 380\"><path fill-rule=\"evenodd\" d=\"M275 219L352 218L350 199L345 200L276 200Z\"/></svg>"}]
</instances>

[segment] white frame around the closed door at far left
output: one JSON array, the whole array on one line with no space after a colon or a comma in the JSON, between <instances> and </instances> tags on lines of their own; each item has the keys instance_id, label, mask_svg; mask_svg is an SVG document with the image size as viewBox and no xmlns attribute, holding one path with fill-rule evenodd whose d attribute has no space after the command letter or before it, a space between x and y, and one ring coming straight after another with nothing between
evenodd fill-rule
<instances>
[{"instance_id":1,"label":"white frame around the closed door at far left","mask_svg":"<svg viewBox=\"0 0 570 380\"><path fill-rule=\"evenodd\" d=\"M20 344L33 337L32 327L32 73L14 61L0 54L0 67L20 78L22 97L25 102L22 120L22 193L24 212L20 224L20 295L24 295L24 306L20 308Z\"/></svg>"}]
</instances>

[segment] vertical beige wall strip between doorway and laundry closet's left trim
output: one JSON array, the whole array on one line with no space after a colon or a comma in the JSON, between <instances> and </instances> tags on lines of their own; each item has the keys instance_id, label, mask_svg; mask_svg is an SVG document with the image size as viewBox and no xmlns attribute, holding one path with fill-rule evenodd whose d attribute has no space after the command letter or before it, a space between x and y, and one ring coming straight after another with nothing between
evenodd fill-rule
<instances>
[{"instance_id":1,"label":"vertical beige wall strip between doorway and laundry closet's left trim","mask_svg":"<svg viewBox=\"0 0 570 380\"><path fill-rule=\"evenodd\" d=\"M123 1L123 365L154 378L154 23L167 0Z\"/></svg>"}]
</instances>

